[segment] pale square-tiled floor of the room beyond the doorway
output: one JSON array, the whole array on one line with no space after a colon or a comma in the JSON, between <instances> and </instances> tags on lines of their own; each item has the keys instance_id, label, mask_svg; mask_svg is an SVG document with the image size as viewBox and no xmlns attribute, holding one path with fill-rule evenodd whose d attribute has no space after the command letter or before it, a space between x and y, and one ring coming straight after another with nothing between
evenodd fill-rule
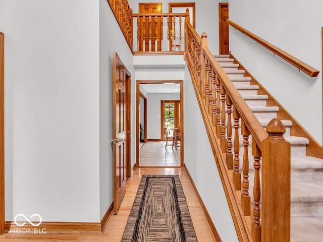
<instances>
[{"instance_id":1,"label":"pale square-tiled floor of the room beyond the doorway","mask_svg":"<svg viewBox=\"0 0 323 242\"><path fill-rule=\"evenodd\" d=\"M166 141L145 143L139 151L140 166L180 166L180 147L176 150L168 145L165 149L165 143Z\"/></svg>"}]
</instances>

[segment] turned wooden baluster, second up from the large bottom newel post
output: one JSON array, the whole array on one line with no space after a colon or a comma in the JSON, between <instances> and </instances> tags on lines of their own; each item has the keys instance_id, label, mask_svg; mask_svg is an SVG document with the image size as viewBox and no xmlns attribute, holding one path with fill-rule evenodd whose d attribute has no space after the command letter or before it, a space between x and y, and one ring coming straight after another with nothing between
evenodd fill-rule
<instances>
[{"instance_id":1,"label":"turned wooden baluster, second up from the large bottom newel post","mask_svg":"<svg viewBox=\"0 0 323 242\"><path fill-rule=\"evenodd\" d=\"M241 208L245 216L250 216L250 196L249 196L249 135L245 123L241 122L241 134L243 136L243 161L242 161L242 194L241 194Z\"/></svg>"}]
</instances>

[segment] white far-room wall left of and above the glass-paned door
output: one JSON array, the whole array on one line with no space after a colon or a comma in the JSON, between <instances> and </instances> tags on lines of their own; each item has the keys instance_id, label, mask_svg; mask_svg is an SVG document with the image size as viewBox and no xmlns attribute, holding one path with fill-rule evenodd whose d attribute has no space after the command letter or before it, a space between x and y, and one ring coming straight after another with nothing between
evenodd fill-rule
<instances>
[{"instance_id":1,"label":"white far-room wall left of and above the glass-paned door","mask_svg":"<svg viewBox=\"0 0 323 242\"><path fill-rule=\"evenodd\" d=\"M147 96L147 139L161 139L161 100L180 100L179 93L148 93Z\"/></svg>"}]
</instances>

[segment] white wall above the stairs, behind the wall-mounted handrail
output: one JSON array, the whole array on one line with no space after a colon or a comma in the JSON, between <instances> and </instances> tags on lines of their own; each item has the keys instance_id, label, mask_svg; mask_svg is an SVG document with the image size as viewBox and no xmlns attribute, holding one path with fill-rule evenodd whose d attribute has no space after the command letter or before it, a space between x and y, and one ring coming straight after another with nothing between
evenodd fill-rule
<instances>
[{"instance_id":1,"label":"white wall above the stairs, behind the wall-mounted handrail","mask_svg":"<svg viewBox=\"0 0 323 242\"><path fill-rule=\"evenodd\" d=\"M232 21L320 72L322 9L323 2L314 0L229 0ZM322 73L298 72L231 27L230 50L322 145Z\"/></svg>"}]
</instances>

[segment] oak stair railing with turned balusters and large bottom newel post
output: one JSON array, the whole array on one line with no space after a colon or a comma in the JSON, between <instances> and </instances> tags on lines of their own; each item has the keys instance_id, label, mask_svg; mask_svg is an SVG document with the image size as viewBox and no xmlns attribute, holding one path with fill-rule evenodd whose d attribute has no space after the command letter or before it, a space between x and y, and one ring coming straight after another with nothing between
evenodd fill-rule
<instances>
[{"instance_id":1,"label":"oak stair railing with turned balusters and large bottom newel post","mask_svg":"<svg viewBox=\"0 0 323 242\"><path fill-rule=\"evenodd\" d=\"M188 21L185 46L184 56L239 241L289 241L290 144L283 138L284 125L275 118L268 123L267 132L263 129L209 51L206 34L199 37ZM250 155L254 160L253 201L249 191Z\"/></svg>"}]
</instances>

